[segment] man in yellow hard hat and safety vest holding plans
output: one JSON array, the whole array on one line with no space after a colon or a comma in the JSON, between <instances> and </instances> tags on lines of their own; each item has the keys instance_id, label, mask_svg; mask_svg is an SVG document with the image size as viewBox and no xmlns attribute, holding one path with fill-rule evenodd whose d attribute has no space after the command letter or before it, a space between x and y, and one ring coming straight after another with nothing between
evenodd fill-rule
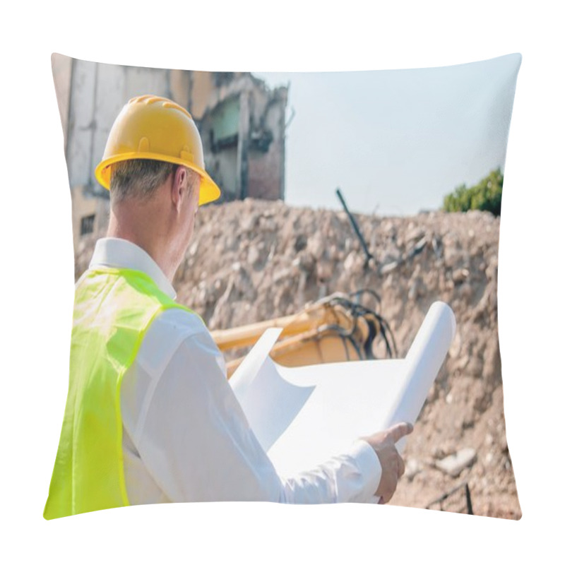
<instances>
[{"instance_id":1,"label":"man in yellow hard hat and safety vest holding plans","mask_svg":"<svg viewBox=\"0 0 565 565\"><path fill-rule=\"evenodd\" d=\"M110 190L107 237L76 284L71 375L44 517L167 501L391 499L410 424L280 477L226 379L200 317L171 281L199 204L220 190L186 110L133 98L95 172Z\"/></svg>"}]
</instances>

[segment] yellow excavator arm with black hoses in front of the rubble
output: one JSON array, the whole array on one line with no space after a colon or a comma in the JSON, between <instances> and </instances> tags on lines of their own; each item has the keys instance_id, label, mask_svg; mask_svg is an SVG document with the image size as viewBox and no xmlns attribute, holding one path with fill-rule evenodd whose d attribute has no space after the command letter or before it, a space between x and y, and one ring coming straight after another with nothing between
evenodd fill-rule
<instances>
[{"instance_id":1,"label":"yellow excavator arm with black hoses in front of the rubble","mask_svg":"<svg viewBox=\"0 0 565 565\"><path fill-rule=\"evenodd\" d=\"M362 304L368 297L376 303L373 308ZM283 328L270 357L287 367L397 357L391 328L378 311L380 304L372 290L335 293L307 304L297 314L216 330L212 336L222 352L229 352L254 345L268 328ZM228 378L242 360L227 362Z\"/></svg>"}]
</instances>

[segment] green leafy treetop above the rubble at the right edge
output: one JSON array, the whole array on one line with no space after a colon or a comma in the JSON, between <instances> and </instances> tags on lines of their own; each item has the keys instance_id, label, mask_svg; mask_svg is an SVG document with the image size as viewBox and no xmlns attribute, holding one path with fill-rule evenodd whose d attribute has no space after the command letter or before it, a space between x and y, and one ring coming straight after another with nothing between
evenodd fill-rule
<instances>
[{"instance_id":1,"label":"green leafy treetop above the rubble at the right edge","mask_svg":"<svg viewBox=\"0 0 565 565\"><path fill-rule=\"evenodd\" d=\"M486 210L500 215L502 202L502 183L504 175L500 168L491 171L487 177L480 180L475 186L467 188L460 184L444 198L445 212L466 212L467 210Z\"/></svg>"}]
</instances>

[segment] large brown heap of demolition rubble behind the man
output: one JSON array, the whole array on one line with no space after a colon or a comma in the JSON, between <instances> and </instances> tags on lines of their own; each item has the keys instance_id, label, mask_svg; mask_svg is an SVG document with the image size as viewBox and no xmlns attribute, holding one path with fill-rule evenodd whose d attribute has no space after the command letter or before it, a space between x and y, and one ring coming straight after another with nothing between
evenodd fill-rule
<instances>
[{"instance_id":1,"label":"large brown heap of demolition rubble behind the man","mask_svg":"<svg viewBox=\"0 0 565 565\"><path fill-rule=\"evenodd\" d=\"M478 211L409 218L246 199L206 206L174 287L210 330L292 314L333 292L369 288L404 357L427 310L448 303L458 329L405 450L391 504L425 508L468 483L482 516L521 517L503 412L497 333L499 218ZM76 276L93 239L81 242ZM436 506L434 506L435 508Z\"/></svg>"}]
</instances>

